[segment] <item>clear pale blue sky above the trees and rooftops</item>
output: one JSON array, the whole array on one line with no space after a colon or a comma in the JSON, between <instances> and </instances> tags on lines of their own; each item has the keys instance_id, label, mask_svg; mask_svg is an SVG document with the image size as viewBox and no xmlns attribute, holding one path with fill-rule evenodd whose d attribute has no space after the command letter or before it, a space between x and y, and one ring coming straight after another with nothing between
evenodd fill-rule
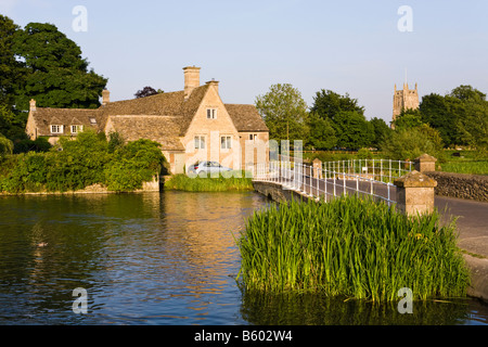
<instances>
[{"instance_id":1,"label":"clear pale blue sky above the trees and rooftops","mask_svg":"<svg viewBox=\"0 0 488 347\"><path fill-rule=\"evenodd\" d=\"M87 30L75 31L76 5ZM412 30L400 31L401 5ZM111 99L145 86L182 90L182 67L220 81L226 103L254 103L273 83L292 83L308 105L321 89L348 92L368 118L391 119L394 85L407 69L420 97L460 85L488 92L488 1L108 1L0 0L25 26L52 23L78 43Z\"/></svg>"}]
</instances>

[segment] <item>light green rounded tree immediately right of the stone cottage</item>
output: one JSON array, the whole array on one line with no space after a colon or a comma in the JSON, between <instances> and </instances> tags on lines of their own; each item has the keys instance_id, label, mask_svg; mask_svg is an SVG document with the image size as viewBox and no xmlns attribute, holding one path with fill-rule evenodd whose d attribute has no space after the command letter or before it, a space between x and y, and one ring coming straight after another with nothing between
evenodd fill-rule
<instances>
[{"instance_id":1,"label":"light green rounded tree immediately right of the stone cottage","mask_svg":"<svg viewBox=\"0 0 488 347\"><path fill-rule=\"evenodd\" d=\"M290 83L272 85L256 98L256 108L273 140L305 140L307 104L298 89Z\"/></svg>"}]
</instances>

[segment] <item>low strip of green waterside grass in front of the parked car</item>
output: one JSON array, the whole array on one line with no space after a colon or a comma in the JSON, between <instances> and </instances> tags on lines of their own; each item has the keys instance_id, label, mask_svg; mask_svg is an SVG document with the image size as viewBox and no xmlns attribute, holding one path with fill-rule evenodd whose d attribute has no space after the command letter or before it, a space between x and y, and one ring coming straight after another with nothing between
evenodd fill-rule
<instances>
[{"instance_id":1,"label":"low strip of green waterside grass in front of the parked car","mask_svg":"<svg viewBox=\"0 0 488 347\"><path fill-rule=\"evenodd\" d=\"M179 190L187 192L223 192L253 190L251 178L236 177L188 177L187 175L175 175L165 181L165 190Z\"/></svg>"}]
</instances>

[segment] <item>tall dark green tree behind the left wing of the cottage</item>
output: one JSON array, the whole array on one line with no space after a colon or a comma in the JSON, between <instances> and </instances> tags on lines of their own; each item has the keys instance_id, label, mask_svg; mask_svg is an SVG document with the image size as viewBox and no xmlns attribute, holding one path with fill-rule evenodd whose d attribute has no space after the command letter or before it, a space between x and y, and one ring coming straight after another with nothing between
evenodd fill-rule
<instances>
[{"instance_id":1,"label":"tall dark green tree behind the left wing of the cottage","mask_svg":"<svg viewBox=\"0 0 488 347\"><path fill-rule=\"evenodd\" d=\"M13 38L13 51L27 75L16 90L18 110L30 99L43 107L94 108L107 79L88 69L81 49L52 24L29 23Z\"/></svg>"}]
</instances>

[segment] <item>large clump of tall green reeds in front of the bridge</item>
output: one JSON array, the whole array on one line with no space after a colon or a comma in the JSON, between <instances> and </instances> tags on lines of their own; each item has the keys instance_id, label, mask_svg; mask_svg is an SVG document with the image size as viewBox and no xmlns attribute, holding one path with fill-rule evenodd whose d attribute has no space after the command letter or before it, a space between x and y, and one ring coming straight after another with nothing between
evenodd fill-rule
<instances>
[{"instance_id":1,"label":"large clump of tall green reeds in front of the bridge","mask_svg":"<svg viewBox=\"0 0 488 347\"><path fill-rule=\"evenodd\" d=\"M408 218L395 207L344 196L256 211L236 240L249 291L321 292L373 301L465 296L468 272L455 221L437 211Z\"/></svg>"}]
</instances>

